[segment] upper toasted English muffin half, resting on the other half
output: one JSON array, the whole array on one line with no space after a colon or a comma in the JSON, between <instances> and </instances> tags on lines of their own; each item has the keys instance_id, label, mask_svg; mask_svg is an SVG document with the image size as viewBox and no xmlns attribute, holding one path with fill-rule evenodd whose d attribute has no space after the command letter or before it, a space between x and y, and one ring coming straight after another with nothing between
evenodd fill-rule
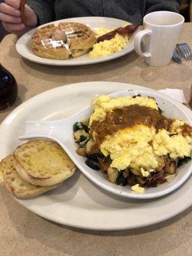
<instances>
[{"instance_id":1,"label":"upper toasted English muffin half, resting on the other half","mask_svg":"<svg viewBox=\"0 0 192 256\"><path fill-rule=\"evenodd\" d=\"M13 152L15 170L27 182L52 186L71 177L76 165L58 143L36 140L24 143Z\"/></svg>"}]
</instances>

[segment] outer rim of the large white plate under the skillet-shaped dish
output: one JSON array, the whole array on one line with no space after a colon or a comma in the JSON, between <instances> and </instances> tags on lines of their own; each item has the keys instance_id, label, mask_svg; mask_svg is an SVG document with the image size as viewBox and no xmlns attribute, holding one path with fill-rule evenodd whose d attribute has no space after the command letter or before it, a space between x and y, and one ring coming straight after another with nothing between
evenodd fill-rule
<instances>
[{"instance_id":1,"label":"outer rim of the large white plate under the skillet-shaped dish","mask_svg":"<svg viewBox=\"0 0 192 256\"><path fill-rule=\"evenodd\" d=\"M110 84L124 84L126 86L136 86L134 84L125 84L125 83L113 83L113 82L86 82L86 83L77 83L77 84L69 84L68 86L78 86L81 85L81 84L90 84L90 83L95 83L95 84L98 84L98 83L110 83ZM15 113L17 113L17 111L20 111L22 109L22 107L27 107L28 106L28 103L31 102L31 100L36 100L38 99L38 97L40 97L41 95L44 95L45 93L52 93L53 91L56 91L56 90L62 90L63 87L66 87L66 86L61 86L61 87L58 87L58 88L54 88L52 90L49 90L47 92L44 92L44 93L40 93L39 95L36 95L35 97L29 99L28 101L24 102L23 104L21 104L19 107L17 107L16 109L14 109L12 111L12 113L10 113L10 115L8 115L4 121L1 123L0 125L0 131L1 131L1 127L6 124L6 120L8 120L8 118L12 118L12 115L15 115ZM150 88L143 88L142 86L136 86L136 87L140 87L137 88L137 90L150 90L150 91L154 91ZM161 93L160 93L161 94ZM163 93L162 93L163 94ZM169 98L169 97L168 97ZM172 99L173 100L173 99ZM174 100L175 102L177 102L176 100ZM182 108L187 111L189 114L191 114L191 112L185 107L183 106L182 104L180 104L180 106L182 106ZM191 115L192 116L192 115ZM189 178L190 179L190 178ZM189 180L188 179L188 180ZM168 195L169 196L169 195ZM19 200L17 198L14 198L17 202L19 202L19 204L23 205L24 207L26 207L26 205L24 204L24 200ZM180 207L180 210L179 211L173 211L171 214L168 214L166 217L165 216L161 216L160 218L158 218L158 220L153 220L153 221L148 221L148 222L145 222L143 223L142 225L141 224L134 224L134 225L129 225L129 227L127 227L126 225L124 227L118 227L117 226L114 226L113 227L90 227L90 225L84 225L84 224L77 224L77 223L68 223L68 221L63 221L63 220L60 220L60 218L55 218L54 216L52 216L51 214L49 213L42 213L41 211L38 211L38 209L34 210L33 208L31 209L31 207L26 207L27 209L29 209L29 211L31 212L34 212L35 214L38 214L39 216L41 216L42 218L46 218L48 220L51 220L51 221L54 221L56 223L60 223L62 225L68 225L70 227L76 227L76 228L83 228L83 229L90 229L90 230L127 230L127 229L131 229L131 228L139 228L139 227L146 227L148 225L153 225L155 223L159 223L161 221L164 221L164 220L168 220L169 218L172 218L173 216L177 215L177 214L180 214L180 212L182 211L185 211L186 209L188 209L188 207L191 206L191 201L188 202L188 204L186 204L184 207Z\"/></svg>"}]
</instances>

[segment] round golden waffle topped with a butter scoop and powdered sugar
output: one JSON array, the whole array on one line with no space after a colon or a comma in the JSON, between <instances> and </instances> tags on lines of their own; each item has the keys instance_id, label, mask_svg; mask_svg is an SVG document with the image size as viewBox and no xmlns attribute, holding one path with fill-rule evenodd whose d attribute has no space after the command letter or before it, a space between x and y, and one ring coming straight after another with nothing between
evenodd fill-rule
<instances>
[{"instance_id":1,"label":"round golden waffle topped with a butter scoop and powdered sugar","mask_svg":"<svg viewBox=\"0 0 192 256\"><path fill-rule=\"evenodd\" d=\"M95 33L88 26L75 22L60 22L38 29L32 36L31 48L42 58L67 60L89 52L96 42Z\"/></svg>"}]
</instances>

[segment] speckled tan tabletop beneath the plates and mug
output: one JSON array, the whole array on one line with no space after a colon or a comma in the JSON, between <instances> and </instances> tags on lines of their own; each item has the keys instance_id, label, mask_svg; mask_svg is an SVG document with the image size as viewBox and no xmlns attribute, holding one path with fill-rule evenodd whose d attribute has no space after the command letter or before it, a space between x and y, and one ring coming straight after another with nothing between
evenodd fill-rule
<instances>
[{"instance_id":1,"label":"speckled tan tabletop beneath the plates and mug","mask_svg":"<svg viewBox=\"0 0 192 256\"><path fill-rule=\"evenodd\" d=\"M180 42L192 46L192 23L184 24ZM12 72L19 97L12 108L0 113L0 123L20 103L57 86L86 81L113 81L153 89L179 88L186 99L192 82L192 61L172 61L167 67L145 65L135 52L122 58L82 67L50 67L20 58L17 38L7 35L0 44L1 64ZM191 209L171 220L136 230L96 232L63 227L44 220L0 188L0 255L130 255L191 256Z\"/></svg>"}]
</instances>

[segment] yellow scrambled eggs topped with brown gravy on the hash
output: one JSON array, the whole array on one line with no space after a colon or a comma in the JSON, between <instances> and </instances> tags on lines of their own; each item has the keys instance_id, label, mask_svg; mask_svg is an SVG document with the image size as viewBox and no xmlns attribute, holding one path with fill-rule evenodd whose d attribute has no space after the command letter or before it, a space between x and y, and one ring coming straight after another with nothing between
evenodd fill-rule
<instances>
[{"instance_id":1,"label":"yellow scrambled eggs topped with brown gravy on the hash","mask_svg":"<svg viewBox=\"0 0 192 256\"><path fill-rule=\"evenodd\" d=\"M130 96L111 98L102 95L95 99L95 109L90 117L90 125L93 120L104 120L108 111L125 108L132 104L158 109L156 100L152 98ZM104 156L111 157L111 167L120 171L129 166L140 170L143 177L147 177L148 172L157 168L159 156L170 154L170 157L175 159L191 155L191 138L182 136L180 132L180 127L186 123L175 120L172 127L176 134L171 134L171 136L166 129L161 129L156 133L155 127L143 124L127 127L112 135L107 135L100 144L100 151Z\"/></svg>"}]
</instances>

